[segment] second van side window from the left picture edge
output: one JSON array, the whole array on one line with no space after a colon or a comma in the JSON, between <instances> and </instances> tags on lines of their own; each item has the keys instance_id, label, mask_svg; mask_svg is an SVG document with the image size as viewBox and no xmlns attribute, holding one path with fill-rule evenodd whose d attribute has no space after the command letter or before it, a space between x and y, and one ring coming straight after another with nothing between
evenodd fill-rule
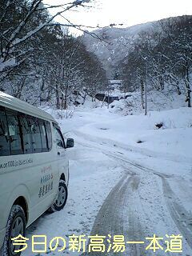
<instances>
[{"instance_id":1,"label":"second van side window from the left picture edge","mask_svg":"<svg viewBox=\"0 0 192 256\"><path fill-rule=\"evenodd\" d=\"M7 111L6 117L8 122L8 130L10 134L10 151L11 154L23 154L22 146L22 129L18 122L17 111Z\"/></svg>"}]
</instances>

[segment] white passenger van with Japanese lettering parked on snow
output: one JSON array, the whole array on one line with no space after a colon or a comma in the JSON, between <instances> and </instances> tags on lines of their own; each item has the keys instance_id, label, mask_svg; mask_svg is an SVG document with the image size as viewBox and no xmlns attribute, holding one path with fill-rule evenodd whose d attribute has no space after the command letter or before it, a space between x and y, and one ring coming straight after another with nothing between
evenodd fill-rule
<instances>
[{"instance_id":1,"label":"white passenger van with Japanese lettering parked on snow","mask_svg":"<svg viewBox=\"0 0 192 256\"><path fill-rule=\"evenodd\" d=\"M46 210L62 210L69 180L66 148L54 118L0 92L0 248L15 256L11 238Z\"/></svg>"}]
</instances>

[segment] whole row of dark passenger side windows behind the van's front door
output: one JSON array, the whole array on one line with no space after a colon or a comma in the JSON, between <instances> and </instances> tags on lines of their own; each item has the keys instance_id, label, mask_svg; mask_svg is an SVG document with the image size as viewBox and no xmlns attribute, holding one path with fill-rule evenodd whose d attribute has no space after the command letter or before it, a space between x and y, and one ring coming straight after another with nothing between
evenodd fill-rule
<instances>
[{"instance_id":1,"label":"whole row of dark passenger side windows behind the van's front door","mask_svg":"<svg viewBox=\"0 0 192 256\"><path fill-rule=\"evenodd\" d=\"M50 122L0 106L0 156L50 151Z\"/></svg>"}]
</instances>

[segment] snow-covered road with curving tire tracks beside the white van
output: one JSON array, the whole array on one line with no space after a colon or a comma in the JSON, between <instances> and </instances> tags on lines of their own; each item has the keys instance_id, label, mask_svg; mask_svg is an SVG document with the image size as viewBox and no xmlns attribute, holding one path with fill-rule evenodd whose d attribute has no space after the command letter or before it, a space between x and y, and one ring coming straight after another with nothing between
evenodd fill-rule
<instances>
[{"instance_id":1,"label":"snow-covered road with curving tire tracks beside the white van","mask_svg":"<svg viewBox=\"0 0 192 256\"><path fill-rule=\"evenodd\" d=\"M34 222L27 230L28 238L46 234L47 241L58 236L69 241L72 234L85 234L89 243L90 234L106 238L109 234L112 237L123 234L126 241L145 242L127 244L124 253L116 254L134 256L154 255L153 250L146 250L150 243L146 238L154 234L163 238L159 242L163 250L159 249L157 255L175 254L165 253L166 241L170 240L166 235L180 234L182 252L177 255L192 255L190 154L182 152L178 157L177 150L176 154L158 154L150 146L145 150L142 146L127 144L129 134L122 134L126 135L124 143L118 133L114 137L110 135L110 126L107 126L108 133L105 129L95 132L94 127L113 122L115 118L119 126L123 125L117 115L106 110L79 111L74 119L60 122L63 132L70 130L66 135L75 140L74 149L66 153L70 158L68 202L61 212L44 214ZM154 134L154 130L151 133ZM28 245L22 255L31 255L31 243ZM46 254L62 255L57 250L51 252L49 245L46 253L33 255ZM66 246L63 254L82 253L72 252Z\"/></svg>"}]
</instances>

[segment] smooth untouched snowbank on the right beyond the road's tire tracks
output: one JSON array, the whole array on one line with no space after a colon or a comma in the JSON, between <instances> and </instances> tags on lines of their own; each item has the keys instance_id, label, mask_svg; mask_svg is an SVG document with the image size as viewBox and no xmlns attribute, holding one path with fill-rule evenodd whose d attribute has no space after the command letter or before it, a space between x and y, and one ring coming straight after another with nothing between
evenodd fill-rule
<instances>
[{"instance_id":1,"label":"smooth untouched snowbank on the right beyond the road's tire tracks","mask_svg":"<svg viewBox=\"0 0 192 256\"><path fill-rule=\"evenodd\" d=\"M82 133L117 142L116 146L150 156L192 162L192 110L154 111L108 121L95 122L78 129Z\"/></svg>"}]
</instances>

